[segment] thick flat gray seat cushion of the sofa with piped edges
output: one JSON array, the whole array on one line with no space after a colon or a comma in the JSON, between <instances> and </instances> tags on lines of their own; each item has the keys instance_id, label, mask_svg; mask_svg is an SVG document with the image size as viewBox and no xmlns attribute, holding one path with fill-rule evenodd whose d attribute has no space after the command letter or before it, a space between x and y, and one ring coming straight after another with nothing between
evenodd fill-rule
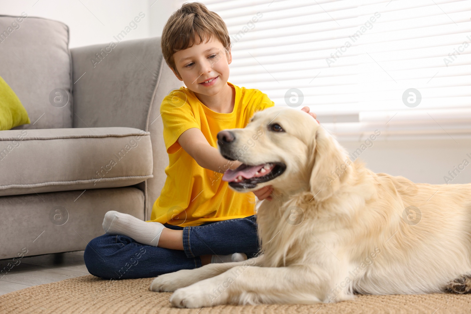
<instances>
[{"instance_id":1,"label":"thick flat gray seat cushion of the sofa with piped edges","mask_svg":"<svg viewBox=\"0 0 471 314\"><path fill-rule=\"evenodd\" d=\"M143 130L0 131L0 196L134 185L153 177L152 169Z\"/></svg>"}]
</instances>

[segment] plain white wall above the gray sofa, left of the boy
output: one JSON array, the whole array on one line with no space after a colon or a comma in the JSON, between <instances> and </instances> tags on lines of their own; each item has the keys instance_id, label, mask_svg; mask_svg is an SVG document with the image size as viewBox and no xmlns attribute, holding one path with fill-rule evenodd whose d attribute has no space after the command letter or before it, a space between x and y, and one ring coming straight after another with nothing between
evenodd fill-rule
<instances>
[{"instance_id":1,"label":"plain white wall above the gray sofa, left of the boy","mask_svg":"<svg viewBox=\"0 0 471 314\"><path fill-rule=\"evenodd\" d=\"M173 0L0 0L0 15L41 16L69 26L70 48L109 43L140 12L145 15L124 40L161 36L181 5ZM114 40L116 41L116 40Z\"/></svg>"}]
</instances>

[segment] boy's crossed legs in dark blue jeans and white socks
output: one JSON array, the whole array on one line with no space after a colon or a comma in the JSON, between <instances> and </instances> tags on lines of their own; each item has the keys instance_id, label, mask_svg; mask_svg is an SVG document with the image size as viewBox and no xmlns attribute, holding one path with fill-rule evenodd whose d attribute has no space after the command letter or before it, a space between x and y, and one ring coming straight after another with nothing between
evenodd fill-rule
<instances>
[{"instance_id":1,"label":"boy's crossed legs in dark blue jeans and white socks","mask_svg":"<svg viewBox=\"0 0 471 314\"><path fill-rule=\"evenodd\" d=\"M98 277L154 277L209 264L211 257L213 262L220 258L227 262L234 252L246 253L250 258L259 251L255 215L180 227L145 222L121 213L118 217L125 219L117 220L113 212L108 213L106 218L111 217L114 222L105 218L103 227L112 234L90 241L84 253L90 274ZM132 218L126 221L123 215ZM239 260L243 259L239 255Z\"/></svg>"}]
</instances>

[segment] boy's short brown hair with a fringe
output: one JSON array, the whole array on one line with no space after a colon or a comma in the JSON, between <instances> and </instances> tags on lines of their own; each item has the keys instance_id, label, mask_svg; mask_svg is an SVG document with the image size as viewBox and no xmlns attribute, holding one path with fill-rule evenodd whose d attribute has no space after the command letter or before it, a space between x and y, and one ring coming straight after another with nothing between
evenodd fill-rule
<instances>
[{"instance_id":1,"label":"boy's short brown hair with a fringe","mask_svg":"<svg viewBox=\"0 0 471 314\"><path fill-rule=\"evenodd\" d=\"M203 39L218 39L229 53L231 40L226 23L215 12L206 8L201 2L185 2L181 8L173 12L163 27L160 46L167 65L179 76L173 54L195 45L196 35L199 42Z\"/></svg>"}]
</instances>

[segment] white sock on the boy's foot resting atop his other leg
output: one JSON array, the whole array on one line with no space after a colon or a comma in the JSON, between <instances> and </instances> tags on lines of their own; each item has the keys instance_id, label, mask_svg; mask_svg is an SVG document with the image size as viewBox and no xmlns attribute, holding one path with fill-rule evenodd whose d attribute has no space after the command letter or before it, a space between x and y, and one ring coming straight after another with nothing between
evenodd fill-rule
<instances>
[{"instance_id":1,"label":"white sock on the boy's foot resting atop his other leg","mask_svg":"<svg viewBox=\"0 0 471 314\"><path fill-rule=\"evenodd\" d=\"M108 234L126 235L139 243L157 246L165 228L160 222L146 222L134 216L110 210L103 219L103 230Z\"/></svg>"}]
</instances>

